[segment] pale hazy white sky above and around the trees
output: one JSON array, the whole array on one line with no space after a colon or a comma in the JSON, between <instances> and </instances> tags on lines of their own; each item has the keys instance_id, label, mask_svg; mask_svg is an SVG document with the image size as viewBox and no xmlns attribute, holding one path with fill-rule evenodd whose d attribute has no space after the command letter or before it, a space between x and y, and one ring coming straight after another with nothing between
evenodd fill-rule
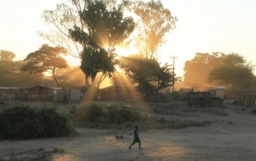
<instances>
[{"instance_id":1,"label":"pale hazy white sky above and around the trees","mask_svg":"<svg viewBox=\"0 0 256 161\"><path fill-rule=\"evenodd\" d=\"M61 0L1 0L0 50L9 50L23 59L43 43L37 31L46 25L43 10L52 9ZM238 53L256 64L256 0L162 0L178 22L166 35L167 43L160 61L172 64L177 56L178 76L186 60L196 52Z\"/></svg>"}]
</instances>

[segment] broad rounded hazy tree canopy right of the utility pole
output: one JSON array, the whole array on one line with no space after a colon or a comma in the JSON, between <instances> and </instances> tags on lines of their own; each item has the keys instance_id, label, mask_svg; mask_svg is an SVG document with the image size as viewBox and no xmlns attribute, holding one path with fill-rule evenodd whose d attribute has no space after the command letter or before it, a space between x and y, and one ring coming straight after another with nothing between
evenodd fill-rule
<instances>
[{"instance_id":1,"label":"broad rounded hazy tree canopy right of the utility pole","mask_svg":"<svg viewBox=\"0 0 256 161\"><path fill-rule=\"evenodd\" d=\"M199 89L212 85L244 87L252 84L248 83L254 79L252 71L253 66L239 54L196 53L192 60L185 62L184 84Z\"/></svg>"}]
</instances>

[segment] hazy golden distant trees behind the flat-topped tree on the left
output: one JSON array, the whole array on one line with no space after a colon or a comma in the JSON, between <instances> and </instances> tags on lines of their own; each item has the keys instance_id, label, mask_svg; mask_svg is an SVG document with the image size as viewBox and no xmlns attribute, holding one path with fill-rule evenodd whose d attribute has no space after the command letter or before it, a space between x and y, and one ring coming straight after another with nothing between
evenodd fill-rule
<instances>
[{"instance_id":1,"label":"hazy golden distant trees behind the flat-topped tree on the left","mask_svg":"<svg viewBox=\"0 0 256 161\"><path fill-rule=\"evenodd\" d=\"M16 55L11 51L0 50L0 87L24 87L38 84L54 86L55 82L48 76L49 74L45 76L43 72L25 71L24 68L28 66L27 61L14 60L15 57ZM79 66L57 69L55 72L60 86L84 85L83 72L79 70Z\"/></svg>"}]
</instances>

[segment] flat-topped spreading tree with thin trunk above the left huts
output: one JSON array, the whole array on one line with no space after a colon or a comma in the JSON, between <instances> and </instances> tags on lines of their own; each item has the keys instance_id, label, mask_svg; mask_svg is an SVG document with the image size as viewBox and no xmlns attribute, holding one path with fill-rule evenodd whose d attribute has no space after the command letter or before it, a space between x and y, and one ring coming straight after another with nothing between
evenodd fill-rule
<instances>
[{"instance_id":1,"label":"flat-topped spreading tree with thin trunk above the left huts","mask_svg":"<svg viewBox=\"0 0 256 161\"><path fill-rule=\"evenodd\" d=\"M66 53L67 51L63 47L42 45L39 50L27 55L24 60L26 64L22 66L21 70L30 73L51 72L53 80L58 87L59 81L55 72L58 69L68 67L67 61L61 57L61 54Z\"/></svg>"}]
</instances>

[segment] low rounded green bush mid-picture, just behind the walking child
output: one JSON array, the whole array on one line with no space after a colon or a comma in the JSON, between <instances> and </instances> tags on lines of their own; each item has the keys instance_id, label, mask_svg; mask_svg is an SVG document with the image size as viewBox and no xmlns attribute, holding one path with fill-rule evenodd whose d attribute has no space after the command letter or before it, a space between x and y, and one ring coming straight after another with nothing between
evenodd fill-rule
<instances>
[{"instance_id":1,"label":"low rounded green bush mid-picture, just behind the walking child","mask_svg":"<svg viewBox=\"0 0 256 161\"><path fill-rule=\"evenodd\" d=\"M78 123L109 123L136 122L140 120L138 112L133 112L124 103L112 103L108 106L101 106L96 103L87 103L79 107L75 112Z\"/></svg>"}]
</instances>

